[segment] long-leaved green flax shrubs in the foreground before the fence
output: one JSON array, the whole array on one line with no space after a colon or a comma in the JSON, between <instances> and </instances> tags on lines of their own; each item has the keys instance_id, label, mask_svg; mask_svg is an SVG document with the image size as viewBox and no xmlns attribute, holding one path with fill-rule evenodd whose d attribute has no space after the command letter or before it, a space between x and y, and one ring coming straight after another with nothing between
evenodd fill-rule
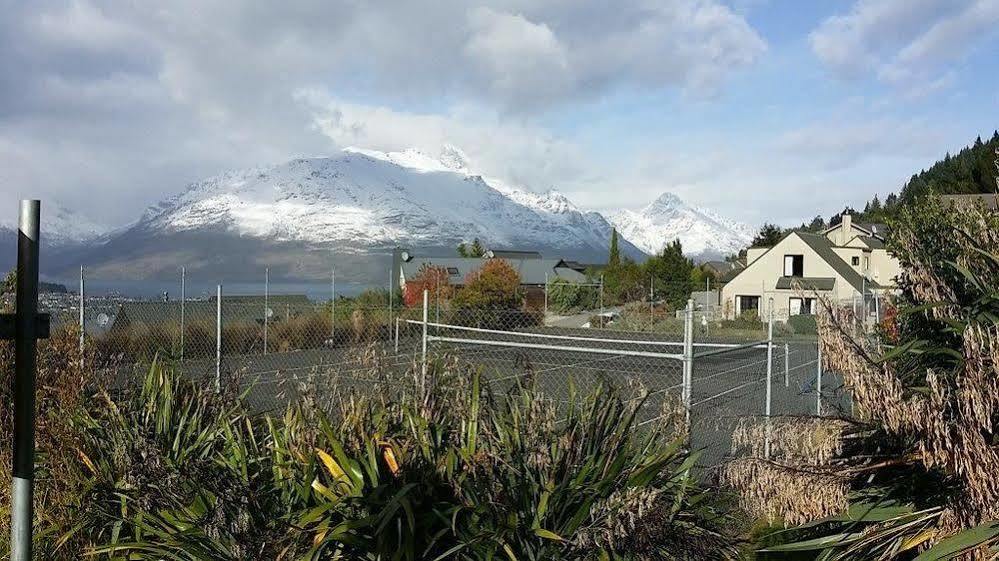
<instances>
[{"instance_id":1,"label":"long-leaved green flax shrubs in the foreground before the fence","mask_svg":"<svg viewBox=\"0 0 999 561\"><path fill-rule=\"evenodd\" d=\"M427 378L277 418L158 362L138 385L43 401L46 559L660 559L734 555L667 411L596 385L493 393L445 359ZM315 381L336 387L334 379ZM54 489L59 489L54 493Z\"/></svg>"}]
</instances>

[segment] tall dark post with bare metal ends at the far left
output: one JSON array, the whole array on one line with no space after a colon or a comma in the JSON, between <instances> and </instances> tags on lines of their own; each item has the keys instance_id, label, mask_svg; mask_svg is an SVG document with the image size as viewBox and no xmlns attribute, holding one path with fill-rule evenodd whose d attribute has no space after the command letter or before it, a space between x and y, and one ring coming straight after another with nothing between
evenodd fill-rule
<instances>
[{"instance_id":1,"label":"tall dark post with bare metal ends at the far left","mask_svg":"<svg viewBox=\"0 0 999 561\"><path fill-rule=\"evenodd\" d=\"M38 222L41 203L21 201L14 339L14 486L11 561L31 560L35 478L35 360L38 340Z\"/></svg>"}]
</instances>

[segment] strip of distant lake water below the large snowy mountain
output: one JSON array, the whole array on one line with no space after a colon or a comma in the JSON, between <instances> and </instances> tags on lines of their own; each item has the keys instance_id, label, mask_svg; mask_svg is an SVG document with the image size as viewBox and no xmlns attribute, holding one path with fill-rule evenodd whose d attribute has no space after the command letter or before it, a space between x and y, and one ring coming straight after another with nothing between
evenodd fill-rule
<instances>
[{"instance_id":1,"label":"strip of distant lake water below the large snowy mountain","mask_svg":"<svg viewBox=\"0 0 999 561\"><path fill-rule=\"evenodd\" d=\"M72 279L42 279L46 282L56 282L65 285L71 292L79 291L80 280ZM216 285L203 281L188 280L186 293L188 298L207 298L215 295ZM352 297L364 290L373 288L370 284L340 282L336 283L336 295ZM384 288L384 287L376 287ZM310 300L324 301L330 299L330 283L321 282L271 282L271 294L305 294ZM87 279L87 296L121 296L142 300L158 300L166 292L171 299L180 298L180 279L176 281L159 280L101 280ZM263 282L231 282L222 285L223 298L231 295L263 295Z\"/></svg>"}]
</instances>

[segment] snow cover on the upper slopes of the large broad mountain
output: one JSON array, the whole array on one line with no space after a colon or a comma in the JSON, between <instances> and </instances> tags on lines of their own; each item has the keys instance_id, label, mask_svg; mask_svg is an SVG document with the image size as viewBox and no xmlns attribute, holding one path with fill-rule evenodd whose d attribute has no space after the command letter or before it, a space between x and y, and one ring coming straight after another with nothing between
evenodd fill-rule
<instances>
[{"instance_id":1,"label":"snow cover on the upper slopes of the large broad mountain","mask_svg":"<svg viewBox=\"0 0 999 561\"><path fill-rule=\"evenodd\" d=\"M439 158L349 148L329 158L224 173L150 207L136 227L351 247L441 246L478 237L494 247L591 254L606 251L611 229L603 216L581 212L560 193L539 195L470 173L453 146Z\"/></svg>"}]
</instances>

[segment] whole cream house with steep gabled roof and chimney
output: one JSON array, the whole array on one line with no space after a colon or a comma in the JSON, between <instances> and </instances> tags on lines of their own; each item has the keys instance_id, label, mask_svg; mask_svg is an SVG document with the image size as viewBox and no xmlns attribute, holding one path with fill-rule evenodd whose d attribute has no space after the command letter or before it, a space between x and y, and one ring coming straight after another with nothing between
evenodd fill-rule
<instances>
[{"instance_id":1,"label":"whole cream house with steep gabled roof and chimney","mask_svg":"<svg viewBox=\"0 0 999 561\"><path fill-rule=\"evenodd\" d=\"M749 248L746 267L722 288L724 317L764 318L771 299L776 318L811 314L817 295L845 305L866 303L865 314L876 312L899 271L883 235L883 225L854 224L844 215L822 233L791 232L773 247Z\"/></svg>"}]
</instances>

